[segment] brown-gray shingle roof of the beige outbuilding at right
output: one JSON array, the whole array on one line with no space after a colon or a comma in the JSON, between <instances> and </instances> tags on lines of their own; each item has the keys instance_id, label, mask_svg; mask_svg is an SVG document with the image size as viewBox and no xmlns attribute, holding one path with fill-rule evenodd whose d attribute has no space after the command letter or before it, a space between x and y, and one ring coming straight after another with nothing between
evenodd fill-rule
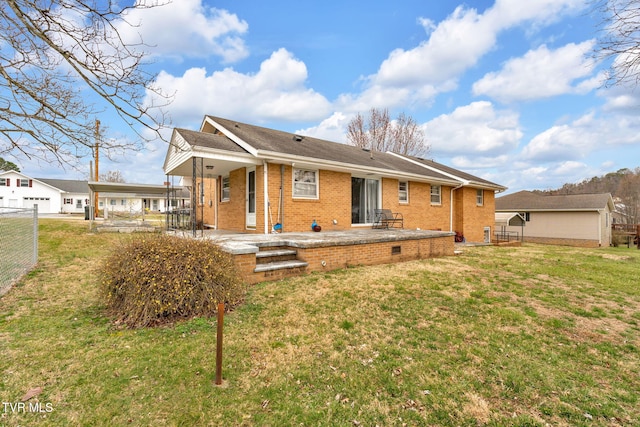
<instances>
[{"instance_id":1,"label":"brown-gray shingle roof of the beige outbuilding at right","mask_svg":"<svg viewBox=\"0 0 640 427\"><path fill-rule=\"evenodd\" d=\"M549 196L519 191L496 197L496 211L598 210L604 209L610 199L609 193Z\"/></svg>"}]
</instances>

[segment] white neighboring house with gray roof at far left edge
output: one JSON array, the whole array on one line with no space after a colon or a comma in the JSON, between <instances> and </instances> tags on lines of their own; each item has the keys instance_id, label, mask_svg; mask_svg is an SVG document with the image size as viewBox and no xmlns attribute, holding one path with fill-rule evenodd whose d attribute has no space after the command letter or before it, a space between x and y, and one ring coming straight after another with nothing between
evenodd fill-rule
<instances>
[{"instance_id":1,"label":"white neighboring house with gray roof at far left edge","mask_svg":"<svg viewBox=\"0 0 640 427\"><path fill-rule=\"evenodd\" d=\"M89 203L86 181L31 178L16 171L0 172L0 207L32 208L39 213L83 213Z\"/></svg>"}]
</instances>

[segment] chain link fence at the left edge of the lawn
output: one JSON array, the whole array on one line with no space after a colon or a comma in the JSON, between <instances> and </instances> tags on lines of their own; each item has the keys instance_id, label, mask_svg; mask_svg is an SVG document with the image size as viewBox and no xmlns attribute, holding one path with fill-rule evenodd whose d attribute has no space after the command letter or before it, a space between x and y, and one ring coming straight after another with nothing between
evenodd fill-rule
<instances>
[{"instance_id":1,"label":"chain link fence at the left edge of the lawn","mask_svg":"<svg viewBox=\"0 0 640 427\"><path fill-rule=\"evenodd\" d=\"M0 295L38 262L38 208L0 207Z\"/></svg>"}]
</instances>

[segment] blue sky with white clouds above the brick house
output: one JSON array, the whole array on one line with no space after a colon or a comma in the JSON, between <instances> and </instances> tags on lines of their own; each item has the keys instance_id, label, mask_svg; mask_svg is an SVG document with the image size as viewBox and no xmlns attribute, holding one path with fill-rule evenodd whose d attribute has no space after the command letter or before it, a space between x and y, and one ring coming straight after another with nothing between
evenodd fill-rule
<instances>
[{"instance_id":1,"label":"blue sky with white clouds above the brick house","mask_svg":"<svg viewBox=\"0 0 640 427\"><path fill-rule=\"evenodd\" d=\"M591 4L174 0L136 12L140 26L123 33L153 46L175 127L198 129L211 114L345 142L355 114L388 108L424 127L428 157L513 192L640 166L640 95L602 86ZM100 119L107 138L133 138ZM162 183L165 153L155 141L100 170Z\"/></svg>"}]
</instances>

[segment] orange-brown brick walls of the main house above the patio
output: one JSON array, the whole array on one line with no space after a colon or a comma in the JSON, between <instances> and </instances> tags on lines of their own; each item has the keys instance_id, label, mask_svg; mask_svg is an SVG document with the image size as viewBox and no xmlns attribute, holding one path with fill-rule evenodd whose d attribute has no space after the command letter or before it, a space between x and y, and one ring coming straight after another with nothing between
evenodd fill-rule
<instances>
[{"instance_id":1,"label":"orange-brown brick walls of the main house above the patio","mask_svg":"<svg viewBox=\"0 0 640 427\"><path fill-rule=\"evenodd\" d=\"M327 170L318 171L319 198L294 198L292 194L292 166L285 165L281 180L279 164L268 165L269 199L271 212L267 216L268 230L280 222L285 232L310 231L315 219L323 231L348 230L351 228L351 174ZM221 230L264 233L263 209L263 167L256 167L256 227L247 230L245 215L246 169L236 169L230 173L231 197L220 202L218 207L218 227ZM280 185L282 182L282 204ZM445 230L450 227L451 187L441 189L441 204L431 203L431 185L409 182L409 202L398 199L398 180L382 179L382 207L400 212L405 228L423 230ZM279 206L280 217L278 216ZM213 223L213 208L205 206L207 223L209 216ZM336 224L334 224L334 220ZM493 191L484 191L484 204L477 206L476 189L461 188L454 192L454 231L464 234L467 241L484 240L484 227L495 228L495 197Z\"/></svg>"}]
</instances>

